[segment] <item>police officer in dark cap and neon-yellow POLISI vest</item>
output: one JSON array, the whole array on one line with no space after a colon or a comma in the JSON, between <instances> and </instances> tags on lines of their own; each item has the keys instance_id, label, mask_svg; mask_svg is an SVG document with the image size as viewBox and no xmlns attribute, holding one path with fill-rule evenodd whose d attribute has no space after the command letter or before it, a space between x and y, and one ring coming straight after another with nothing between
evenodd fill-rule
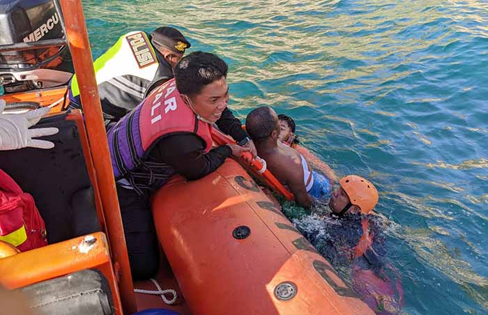
<instances>
[{"instance_id":1,"label":"police officer in dark cap and neon-yellow POLISI vest","mask_svg":"<svg viewBox=\"0 0 488 315\"><path fill-rule=\"evenodd\" d=\"M139 105L155 87L174 77L173 68L190 42L172 27L151 35L132 31L93 63L105 123L119 121ZM70 81L70 107L82 108L77 75Z\"/></svg>"}]
</instances>

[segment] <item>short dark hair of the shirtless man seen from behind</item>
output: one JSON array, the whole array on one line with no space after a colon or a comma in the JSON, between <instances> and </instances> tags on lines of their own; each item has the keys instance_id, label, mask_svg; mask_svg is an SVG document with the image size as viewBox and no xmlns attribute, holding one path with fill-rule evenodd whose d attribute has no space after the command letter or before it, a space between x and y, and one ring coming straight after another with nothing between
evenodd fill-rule
<instances>
[{"instance_id":1,"label":"short dark hair of the shirtless man seen from behind","mask_svg":"<svg viewBox=\"0 0 488 315\"><path fill-rule=\"evenodd\" d=\"M252 141L259 143L268 139L273 130L277 128L277 119L273 116L270 107L258 107L247 114L245 130Z\"/></svg>"}]
</instances>

